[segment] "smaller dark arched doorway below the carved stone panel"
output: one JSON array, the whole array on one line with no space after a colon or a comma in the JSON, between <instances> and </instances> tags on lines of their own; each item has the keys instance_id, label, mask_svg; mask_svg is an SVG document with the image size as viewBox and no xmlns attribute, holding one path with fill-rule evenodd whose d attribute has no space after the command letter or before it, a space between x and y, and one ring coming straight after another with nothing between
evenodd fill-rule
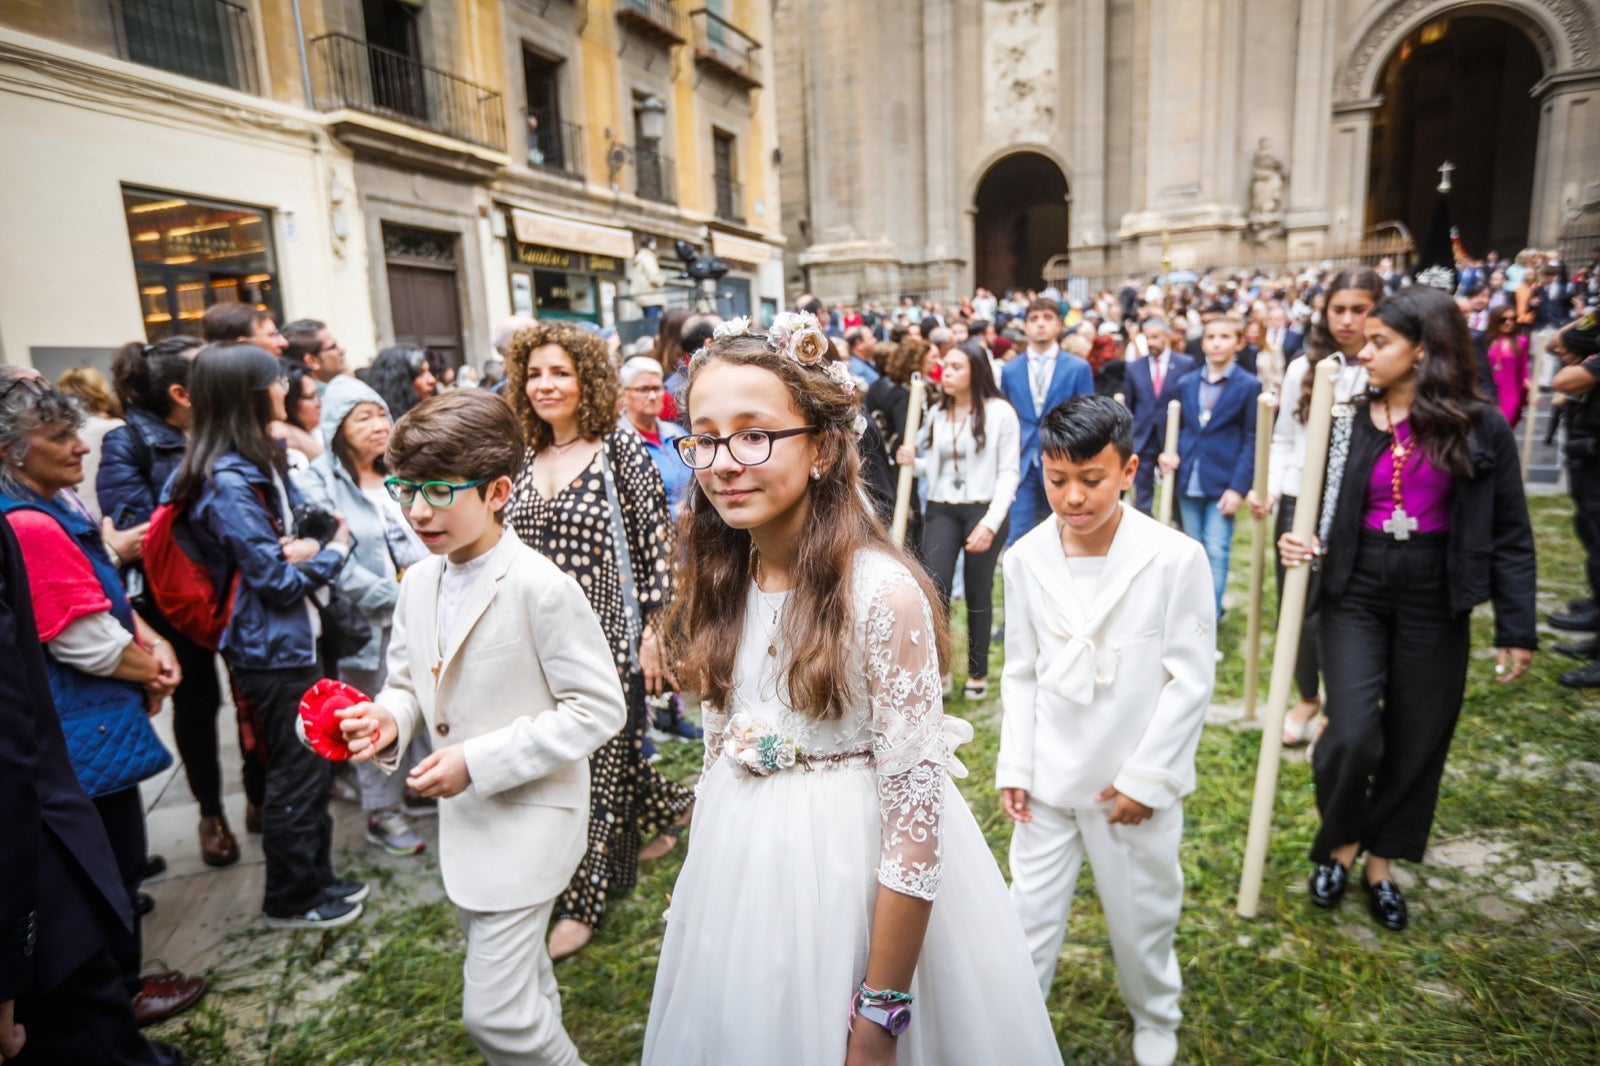
<instances>
[{"instance_id":1,"label":"smaller dark arched doorway below the carved stone panel","mask_svg":"<svg viewBox=\"0 0 1600 1066\"><path fill-rule=\"evenodd\" d=\"M1045 262L1067 250L1067 179L1048 157L1016 152L978 184L976 285L1003 293L1042 288Z\"/></svg>"}]
</instances>

